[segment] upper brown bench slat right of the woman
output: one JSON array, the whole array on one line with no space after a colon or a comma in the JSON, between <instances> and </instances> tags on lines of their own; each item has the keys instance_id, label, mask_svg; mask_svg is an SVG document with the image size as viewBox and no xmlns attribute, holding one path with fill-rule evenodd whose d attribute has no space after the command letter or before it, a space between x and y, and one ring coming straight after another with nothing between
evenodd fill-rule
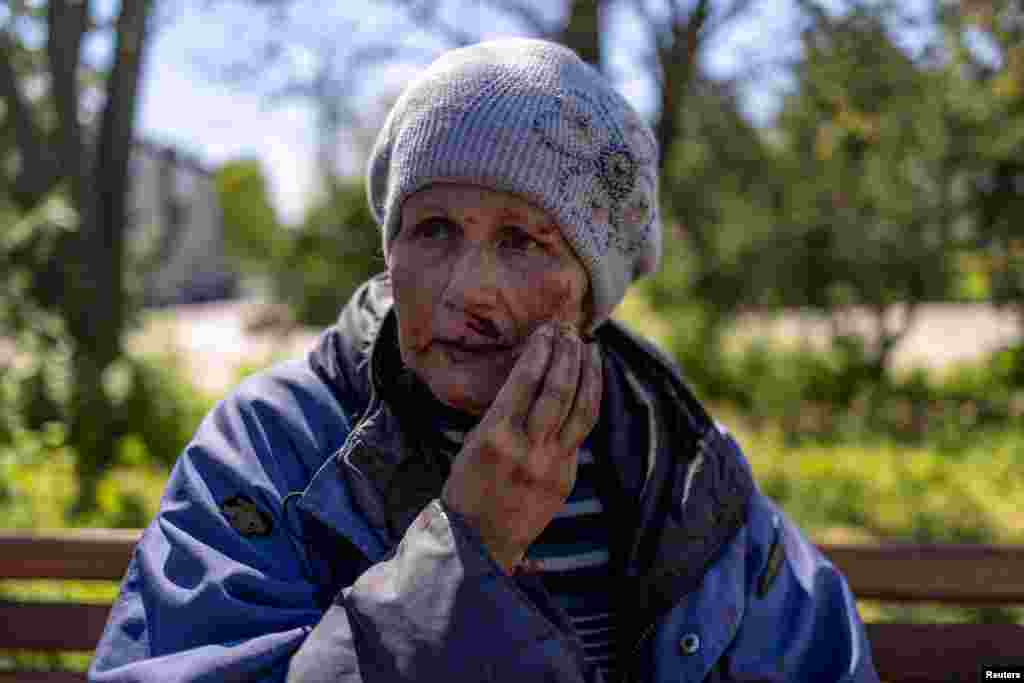
<instances>
[{"instance_id":1,"label":"upper brown bench slat right of the woman","mask_svg":"<svg viewBox=\"0 0 1024 683\"><path fill-rule=\"evenodd\" d=\"M959 605L1024 603L1024 547L821 546L857 598Z\"/></svg>"}]
</instances>

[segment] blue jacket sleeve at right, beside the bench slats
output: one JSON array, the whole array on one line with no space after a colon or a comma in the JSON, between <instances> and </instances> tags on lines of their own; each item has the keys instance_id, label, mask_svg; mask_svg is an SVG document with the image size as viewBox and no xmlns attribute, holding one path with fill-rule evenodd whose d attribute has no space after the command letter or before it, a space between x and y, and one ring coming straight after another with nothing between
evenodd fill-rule
<instances>
[{"instance_id":1,"label":"blue jacket sleeve at right, beside the bench slats","mask_svg":"<svg viewBox=\"0 0 1024 683\"><path fill-rule=\"evenodd\" d=\"M846 578L759 492L750 523L755 570L725 679L877 683Z\"/></svg>"}]
</instances>

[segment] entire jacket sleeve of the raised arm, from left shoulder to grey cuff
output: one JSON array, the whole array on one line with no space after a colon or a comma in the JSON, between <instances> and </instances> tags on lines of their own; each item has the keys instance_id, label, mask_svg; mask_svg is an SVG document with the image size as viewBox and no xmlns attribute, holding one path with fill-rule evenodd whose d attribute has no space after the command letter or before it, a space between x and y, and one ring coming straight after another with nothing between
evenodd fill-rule
<instances>
[{"instance_id":1,"label":"entire jacket sleeve of the raised arm, from left shoulder to grey cuff","mask_svg":"<svg viewBox=\"0 0 1024 683\"><path fill-rule=\"evenodd\" d=\"M204 420L135 548L90 681L600 681L540 583L501 572L437 501L325 611L283 514L347 435L315 402L247 383ZM232 524L225 502L240 500L262 523Z\"/></svg>"}]
</instances>

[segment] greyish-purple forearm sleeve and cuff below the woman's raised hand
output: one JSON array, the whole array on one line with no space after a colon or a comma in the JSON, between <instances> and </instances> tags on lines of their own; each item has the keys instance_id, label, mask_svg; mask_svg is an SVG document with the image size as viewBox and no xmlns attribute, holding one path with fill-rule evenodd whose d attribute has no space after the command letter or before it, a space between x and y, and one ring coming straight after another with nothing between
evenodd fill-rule
<instances>
[{"instance_id":1,"label":"greyish-purple forearm sleeve and cuff below the woman's raised hand","mask_svg":"<svg viewBox=\"0 0 1024 683\"><path fill-rule=\"evenodd\" d=\"M435 499L389 558L341 591L288 681L445 680L603 679L540 581L505 574Z\"/></svg>"}]
</instances>

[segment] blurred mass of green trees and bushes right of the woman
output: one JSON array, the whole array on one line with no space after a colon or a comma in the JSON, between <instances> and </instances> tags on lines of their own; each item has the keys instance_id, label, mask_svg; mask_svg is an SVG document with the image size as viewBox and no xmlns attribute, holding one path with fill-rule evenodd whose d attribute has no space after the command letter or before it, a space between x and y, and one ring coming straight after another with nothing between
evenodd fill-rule
<instances>
[{"instance_id":1,"label":"blurred mass of green trees and bushes right of the woman","mask_svg":"<svg viewBox=\"0 0 1024 683\"><path fill-rule=\"evenodd\" d=\"M996 41L1002 66L985 71L963 23L943 25L941 58L911 55L886 6L850 6L812 12L770 128L753 127L719 84L698 80L681 102L663 177L663 266L640 288L672 322L667 346L701 395L791 440L952 438L1019 415L1019 376L985 367L965 371L983 378L970 383L894 378L888 360L919 303L1024 306L1024 52L1020 23L1006 18L1019 14L988 15L986 31L1018 28L1016 43ZM883 326L896 305L903 324ZM877 338L843 314L851 306L874 318ZM828 316L828 350L727 350L738 313L795 307Z\"/></svg>"}]
</instances>

